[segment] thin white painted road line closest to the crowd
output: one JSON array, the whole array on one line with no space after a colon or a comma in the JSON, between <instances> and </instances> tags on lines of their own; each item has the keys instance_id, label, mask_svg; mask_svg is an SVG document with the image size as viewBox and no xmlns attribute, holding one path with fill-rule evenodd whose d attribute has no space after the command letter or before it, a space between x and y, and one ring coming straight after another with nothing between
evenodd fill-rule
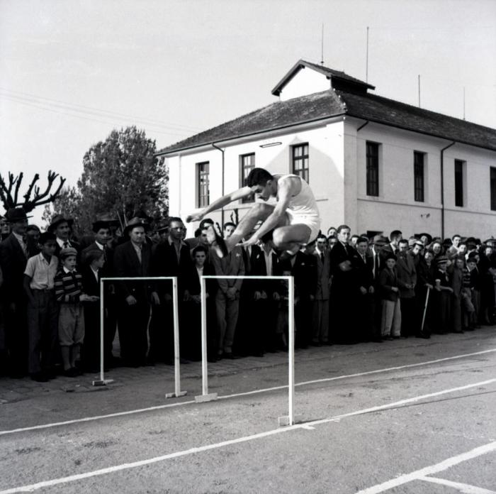
<instances>
[{"instance_id":1,"label":"thin white painted road line closest to the crowd","mask_svg":"<svg viewBox=\"0 0 496 494\"><path fill-rule=\"evenodd\" d=\"M464 353L463 355L456 355L456 356L452 356L452 357L437 358L436 360L433 360L433 361L409 363L409 364L406 364L405 366L387 367L387 368L377 369L377 370L368 370L367 372L361 372L361 373L355 373L355 374L337 375L337 376L334 376L333 378L323 378L323 379L317 379L317 380L304 381L303 383L295 383L295 386L304 386L304 385L310 385L310 384L315 384L315 383L325 383L325 382L333 381L333 380L357 378L357 377L360 377L361 375L378 374L378 373L383 373L383 372L390 372L392 370L402 370L402 369L407 369L407 368L412 368L412 367L429 366L432 363L446 362L446 361L456 360L458 358L467 358L467 357L483 355L485 353L492 353L492 352L496 352L496 348L492 348L490 350L484 350L484 351L477 351L474 353ZM285 390L285 389L288 389L287 385L274 386L273 388L263 388L261 390L245 391L244 393L235 393L233 395L218 396L217 400L227 400L230 398L235 398L235 397L240 397L240 396L257 395L259 393L269 393L270 391L278 391L278 390ZM6 435L6 434L14 434L16 432L27 432L27 431L34 431L34 430L38 430L38 429L49 429L50 427L60 427L61 425L78 424L79 422L91 422L93 420L111 419L113 417L123 417L125 415L134 415L137 413L152 412L153 410L163 410L165 408L180 407L182 405L191 405L191 404L196 404L196 401L195 400L188 400L188 401L183 401L183 402L178 402L178 403L168 403L167 405L156 405L154 407L138 408L137 410L128 410L127 412L115 412L115 413L109 413L106 415L94 415L92 417L84 417L82 419L64 420L63 422L51 422L50 424L40 424L40 425L33 425L30 427L20 427L18 429L9 429L9 430L0 431L0 436Z\"/></svg>"}]
</instances>

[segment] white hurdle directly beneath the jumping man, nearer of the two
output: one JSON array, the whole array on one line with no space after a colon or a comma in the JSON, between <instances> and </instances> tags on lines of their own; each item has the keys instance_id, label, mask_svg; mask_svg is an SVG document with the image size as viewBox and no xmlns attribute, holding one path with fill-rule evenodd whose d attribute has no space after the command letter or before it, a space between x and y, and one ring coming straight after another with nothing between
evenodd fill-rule
<instances>
[{"instance_id":1,"label":"white hurdle directly beneath the jumping man, nearer of the two","mask_svg":"<svg viewBox=\"0 0 496 494\"><path fill-rule=\"evenodd\" d=\"M286 426L295 423L295 326L294 303L295 282L293 276L218 276L205 275L200 278L201 287L201 379L202 393L195 397L196 402L217 400L217 393L208 393L207 363L207 292L205 280L283 280L288 282L288 415L278 417L278 425Z\"/></svg>"}]
</instances>

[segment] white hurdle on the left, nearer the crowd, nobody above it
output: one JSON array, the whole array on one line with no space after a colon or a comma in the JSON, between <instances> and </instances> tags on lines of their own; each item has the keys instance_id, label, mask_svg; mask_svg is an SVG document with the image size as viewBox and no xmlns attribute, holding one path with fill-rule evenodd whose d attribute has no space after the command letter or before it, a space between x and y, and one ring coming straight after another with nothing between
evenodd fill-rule
<instances>
[{"instance_id":1,"label":"white hurdle on the left, nearer the crowd, nobody above it","mask_svg":"<svg viewBox=\"0 0 496 494\"><path fill-rule=\"evenodd\" d=\"M94 386L105 386L113 383L113 379L106 379L103 366L103 324L105 322L105 307L104 307L104 290L103 283L115 281L172 281L172 311L174 319L174 393L166 393L166 398L174 398L186 395L186 391L181 391L181 364L179 361L179 314L178 314L178 297L177 297L177 277L176 276L147 276L147 277L121 277L121 278L101 278L100 280L100 379L94 380Z\"/></svg>"}]
</instances>

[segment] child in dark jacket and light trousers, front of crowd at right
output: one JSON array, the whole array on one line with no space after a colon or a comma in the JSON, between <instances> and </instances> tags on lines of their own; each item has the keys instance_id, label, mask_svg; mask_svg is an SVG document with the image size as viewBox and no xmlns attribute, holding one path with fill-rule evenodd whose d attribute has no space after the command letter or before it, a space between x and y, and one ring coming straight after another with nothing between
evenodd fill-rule
<instances>
[{"instance_id":1,"label":"child in dark jacket and light trousers, front of crowd at right","mask_svg":"<svg viewBox=\"0 0 496 494\"><path fill-rule=\"evenodd\" d=\"M385 268L379 275L379 285L383 308L381 338L398 339L401 334L400 290L396 273L396 257L393 253L389 253L385 258Z\"/></svg>"}]
</instances>

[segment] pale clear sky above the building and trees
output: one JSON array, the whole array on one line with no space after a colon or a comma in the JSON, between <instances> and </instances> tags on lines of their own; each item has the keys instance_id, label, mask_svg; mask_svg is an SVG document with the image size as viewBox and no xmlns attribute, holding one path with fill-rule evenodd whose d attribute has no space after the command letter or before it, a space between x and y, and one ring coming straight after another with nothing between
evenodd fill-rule
<instances>
[{"instance_id":1,"label":"pale clear sky above the building and trees","mask_svg":"<svg viewBox=\"0 0 496 494\"><path fill-rule=\"evenodd\" d=\"M324 35L322 38L322 25ZM494 0L0 0L0 173L76 185L136 125L157 149L277 101L300 58L496 128ZM35 210L39 219L43 207Z\"/></svg>"}]
</instances>

